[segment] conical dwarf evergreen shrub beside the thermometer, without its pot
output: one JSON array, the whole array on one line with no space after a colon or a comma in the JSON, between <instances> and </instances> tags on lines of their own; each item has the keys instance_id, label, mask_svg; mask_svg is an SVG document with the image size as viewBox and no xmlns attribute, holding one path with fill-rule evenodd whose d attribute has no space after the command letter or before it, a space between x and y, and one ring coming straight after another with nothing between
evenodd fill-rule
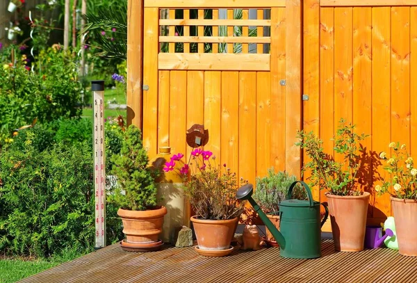
<instances>
[{"instance_id":1,"label":"conical dwarf evergreen shrub beside the thermometer, without its pot","mask_svg":"<svg viewBox=\"0 0 417 283\"><path fill-rule=\"evenodd\" d=\"M123 209L146 210L156 205L154 177L141 138L140 129L132 124L126 130L120 154L113 156L113 174L125 192L116 191L115 201Z\"/></svg>"}]
</instances>

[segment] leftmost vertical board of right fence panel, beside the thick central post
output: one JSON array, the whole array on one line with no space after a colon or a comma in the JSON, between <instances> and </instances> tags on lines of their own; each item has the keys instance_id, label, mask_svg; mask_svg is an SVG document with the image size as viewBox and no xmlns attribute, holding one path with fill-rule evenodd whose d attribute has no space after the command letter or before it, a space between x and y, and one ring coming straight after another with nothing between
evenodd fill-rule
<instances>
[{"instance_id":1,"label":"leftmost vertical board of right fence panel, beside the thick central post","mask_svg":"<svg viewBox=\"0 0 417 283\"><path fill-rule=\"evenodd\" d=\"M320 3L319 0L304 1L304 26L303 26L303 94L309 95L309 100L303 102L303 129L306 132L313 131L316 135L320 132ZM303 163L309 162L309 158L303 152ZM303 179L307 179L310 173L305 172ZM313 198L320 200L320 188L311 188Z\"/></svg>"}]
</instances>

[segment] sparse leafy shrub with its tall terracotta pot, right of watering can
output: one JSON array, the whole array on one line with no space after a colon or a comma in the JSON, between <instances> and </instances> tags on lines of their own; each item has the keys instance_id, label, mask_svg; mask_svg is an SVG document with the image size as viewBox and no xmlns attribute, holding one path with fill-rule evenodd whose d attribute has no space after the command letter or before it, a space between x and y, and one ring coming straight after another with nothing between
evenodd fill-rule
<instances>
[{"instance_id":1,"label":"sparse leafy shrub with its tall terracotta pot, right of watering can","mask_svg":"<svg viewBox=\"0 0 417 283\"><path fill-rule=\"evenodd\" d=\"M296 143L310 159L303 168L303 172L311 173L307 179L312 186L327 189L334 248L343 252L363 250L370 197L357 184L357 172L363 166L360 142L367 136L355 133L354 129L354 125L340 121L334 138L337 156L325 153L322 140L313 132L299 131L300 141Z\"/></svg>"}]
</instances>

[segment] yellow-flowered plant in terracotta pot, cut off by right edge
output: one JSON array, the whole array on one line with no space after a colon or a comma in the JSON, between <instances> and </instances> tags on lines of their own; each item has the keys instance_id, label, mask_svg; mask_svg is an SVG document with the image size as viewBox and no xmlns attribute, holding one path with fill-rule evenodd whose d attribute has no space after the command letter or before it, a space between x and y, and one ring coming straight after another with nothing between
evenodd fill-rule
<instances>
[{"instance_id":1,"label":"yellow-flowered plant in terracotta pot, cut off by right edge","mask_svg":"<svg viewBox=\"0 0 417 283\"><path fill-rule=\"evenodd\" d=\"M381 152L379 158L386 160L384 169L391 177L375 186L375 191L391 195L400 254L417 257L417 168L406 145L390 143L389 147L392 156Z\"/></svg>"}]
</instances>

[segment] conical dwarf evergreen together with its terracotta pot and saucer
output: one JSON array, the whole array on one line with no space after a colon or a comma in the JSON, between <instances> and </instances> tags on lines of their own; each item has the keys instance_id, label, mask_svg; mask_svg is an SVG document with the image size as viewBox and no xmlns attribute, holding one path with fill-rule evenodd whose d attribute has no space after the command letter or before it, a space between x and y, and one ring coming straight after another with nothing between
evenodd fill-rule
<instances>
[{"instance_id":1,"label":"conical dwarf evergreen together with its terracotta pot and saucer","mask_svg":"<svg viewBox=\"0 0 417 283\"><path fill-rule=\"evenodd\" d=\"M163 245L158 240L162 232L165 207L156 205L156 186L149 159L142 147L138 127L131 125L126 130L120 154L113 156L113 174L117 176L115 202L120 205L117 215L122 218L126 250L157 250Z\"/></svg>"}]
</instances>

